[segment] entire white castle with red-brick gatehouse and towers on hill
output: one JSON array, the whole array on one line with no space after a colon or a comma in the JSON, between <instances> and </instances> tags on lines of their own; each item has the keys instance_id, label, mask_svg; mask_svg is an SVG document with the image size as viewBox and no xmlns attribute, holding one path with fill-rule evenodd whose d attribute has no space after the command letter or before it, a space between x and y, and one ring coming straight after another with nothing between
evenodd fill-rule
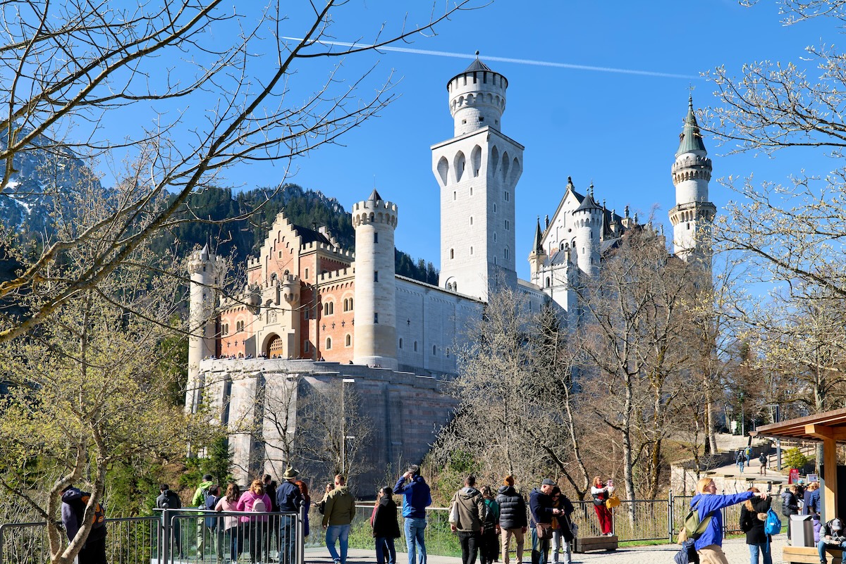
<instances>
[{"instance_id":1,"label":"entire white castle with red-brick gatehouse and towers on hill","mask_svg":"<svg viewBox=\"0 0 846 564\"><path fill-rule=\"evenodd\" d=\"M246 266L243 292L219 303L222 261L207 247L195 252L190 316L197 329L190 338L186 408L206 401L227 425L235 413L260 418L267 407L255 405L261 387L292 372L307 375L298 386L355 380L371 420L379 422L371 458L383 466L398 458L417 461L449 420L453 403L439 382L457 371L455 347L481 316L489 292L506 285L522 292L530 308L552 302L572 312L578 279L602 268L603 252L637 225L637 216L629 216L628 206L623 215L607 209L592 185L580 193L568 179L552 217L539 219L534 240L518 246L514 203L524 147L503 133L507 89L508 80L478 58L447 83L453 137L431 146L441 202L437 285L395 274L400 210L376 190L350 209L354 249L339 247L326 228L311 230L278 214ZM692 99L672 175L673 249L689 258L716 214L708 201L711 160ZM530 280L521 280L515 260L526 249ZM296 420L295 405L291 409ZM278 471L269 450L280 438L255 423L259 431L230 438L235 465L244 473L262 464Z\"/></svg>"}]
</instances>

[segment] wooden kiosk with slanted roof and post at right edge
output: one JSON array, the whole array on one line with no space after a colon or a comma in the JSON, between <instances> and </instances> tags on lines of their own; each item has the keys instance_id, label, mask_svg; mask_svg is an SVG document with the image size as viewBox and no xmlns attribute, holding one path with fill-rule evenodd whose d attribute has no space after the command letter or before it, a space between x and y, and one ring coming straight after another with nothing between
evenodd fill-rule
<instances>
[{"instance_id":1,"label":"wooden kiosk with slanted roof and post at right edge","mask_svg":"<svg viewBox=\"0 0 846 564\"><path fill-rule=\"evenodd\" d=\"M842 482L846 487L846 466L838 465L837 450L838 443L846 443L846 408L761 426L750 435L821 442L821 521L826 523L835 517L846 518L846 496L838 495L838 483ZM827 550L827 561L841 564L841 560L841 550ZM783 561L816 564L820 557L816 546L785 546Z\"/></svg>"}]
</instances>

